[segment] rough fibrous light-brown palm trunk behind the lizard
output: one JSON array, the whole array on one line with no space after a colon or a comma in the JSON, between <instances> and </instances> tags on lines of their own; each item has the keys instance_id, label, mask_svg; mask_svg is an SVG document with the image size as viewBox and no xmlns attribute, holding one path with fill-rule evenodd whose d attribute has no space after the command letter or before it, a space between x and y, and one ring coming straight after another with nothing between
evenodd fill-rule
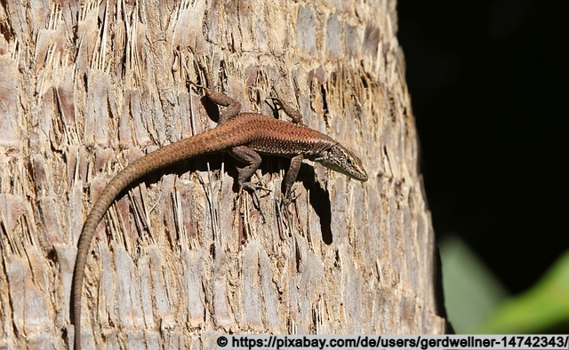
<instances>
[{"instance_id":1,"label":"rough fibrous light-brown palm trunk behind the lizard","mask_svg":"<svg viewBox=\"0 0 569 350\"><path fill-rule=\"evenodd\" d=\"M263 221L227 155L149 176L98 228L84 345L444 330L395 1L8 0L0 32L0 348L70 344L84 217L125 163L215 125L188 85L202 57L244 110L270 115L274 89L371 179L305 165L283 210L267 158Z\"/></svg>"}]
</instances>

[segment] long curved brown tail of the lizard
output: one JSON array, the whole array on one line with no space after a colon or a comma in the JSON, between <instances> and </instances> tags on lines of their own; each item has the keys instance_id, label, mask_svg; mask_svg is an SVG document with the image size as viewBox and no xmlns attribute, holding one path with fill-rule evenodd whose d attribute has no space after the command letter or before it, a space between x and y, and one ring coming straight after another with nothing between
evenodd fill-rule
<instances>
[{"instance_id":1,"label":"long curved brown tail of the lizard","mask_svg":"<svg viewBox=\"0 0 569 350\"><path fill-rule=\"evenodd\" d=\"M73 324L75 325L76 350L81 349L81 296L83 292L84 269L89 255L92 237L95 235L95 229L99 226L100 220L110 205L115 202L116 196L133 182L140 179L140 177L148 174L148 172L156 171L196 155L220 152L228 147L234 146L232 140L226 137L228 129L231 129L231 126L228 124L230 123L223 124L188 139L181 139L178 142L157 149L141 157L137 161L129 164L123 171L116 174L115 178L111 179L107 187L100 193L97 202L95 202L85 220L83 230L79 236L79 242L77 243L77 257L73 273L71 296L73 298L71 305L73 307L72 314Z\"/></svg>"}]
</instances>

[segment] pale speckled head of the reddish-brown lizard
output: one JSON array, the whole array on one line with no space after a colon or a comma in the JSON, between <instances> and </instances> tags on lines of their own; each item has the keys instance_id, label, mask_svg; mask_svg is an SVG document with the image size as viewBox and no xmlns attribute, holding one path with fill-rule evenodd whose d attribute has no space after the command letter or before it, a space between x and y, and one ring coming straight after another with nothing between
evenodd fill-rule
<instances>
[{"instance_id":1,"label":"pale speckled head of the reddish-brown lizard","mask_svg":"<svg viewBox=\"0 0 569 350\"><path fill-rule=\"evenodd\" d=\"M314 160L326 168L341 172L352 179L359 181L367 181L368 179L362 161L348 148L338 143L321 152Z\"/></svg>"}]
</instances>

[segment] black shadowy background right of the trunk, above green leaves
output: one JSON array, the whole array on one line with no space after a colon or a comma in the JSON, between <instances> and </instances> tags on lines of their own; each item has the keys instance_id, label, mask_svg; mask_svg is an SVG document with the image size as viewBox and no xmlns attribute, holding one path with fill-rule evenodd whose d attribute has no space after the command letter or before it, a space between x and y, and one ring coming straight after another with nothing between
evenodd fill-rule
<instances>
[{"instance_id":1,"label":"black shadowy background right of the trunk, above green leaves","mask_svg":"<svg viewBox=\"0 0 569 350\"><path fill-rule=\"evenodd\" d=\"M564 4L397 7L437 239L461 235L512 293L569 247Z\"/></svg>"}]
</instances>

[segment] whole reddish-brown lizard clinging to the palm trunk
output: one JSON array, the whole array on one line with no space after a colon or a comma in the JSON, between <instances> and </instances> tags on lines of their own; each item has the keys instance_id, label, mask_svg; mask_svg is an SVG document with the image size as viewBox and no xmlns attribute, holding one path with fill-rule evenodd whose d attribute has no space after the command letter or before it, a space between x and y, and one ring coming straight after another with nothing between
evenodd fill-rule
<instances>
[{"instance_id":1,"label":"whole reddish-brown lizard clinging to the palm trunk","mask_svg":"<svg viewBox=\"0 0 569 350\"><path fill-rule=\"evenodd\" d=\"M201 62L205 86L196 85L205 91L205 96L220 107L219 123L215 128L180 139L168 146L140 157L118 172L103 188L85 219L77 242L77 254L72 282L72 317L75 326L75 348L81 349L81 297L84 269L90 252L93 235L105 213L116 197L126 187L148 173L200 155L228 152L245 166L237 173L239 190L254 193L251 177L260 167L260 154L278 155L291 159L284 176L284 197L289 198L291 188L301 169L303 159L322 163L333 171L339 171L352 179L366 181L368 175L360 159L324 133L309 129L301 123L301 113L283 100L272 99L276 111L283 110L292 120L286 122L266 115L241 112L241 103L221 91L213 90L212 78Z\"/></svg>"}]
</instances>

